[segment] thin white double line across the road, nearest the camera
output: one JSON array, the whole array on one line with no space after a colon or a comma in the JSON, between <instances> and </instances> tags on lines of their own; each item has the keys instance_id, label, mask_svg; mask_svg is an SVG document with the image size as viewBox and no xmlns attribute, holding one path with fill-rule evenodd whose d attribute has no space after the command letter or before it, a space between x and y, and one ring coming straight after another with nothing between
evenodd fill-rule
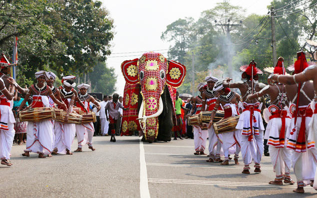
<instances>
[{"instance_id":1,"label":"thin white double line across the road, nearest the camera","mask_svg":"<svg viewBox=\"0 0 317 198\"><path fill-rule=\"evenodd\" d=\"M224 182L224 181L204 181L204 180L173 180L173 179L148 179L149 183L163 184L189 184L189 185L213 185L213 186L234 186L234 187L262 187L262 188L296 188L296 185L269 185L268 183L248 183L248 182Z\"/></svg>"}]
</instances>

